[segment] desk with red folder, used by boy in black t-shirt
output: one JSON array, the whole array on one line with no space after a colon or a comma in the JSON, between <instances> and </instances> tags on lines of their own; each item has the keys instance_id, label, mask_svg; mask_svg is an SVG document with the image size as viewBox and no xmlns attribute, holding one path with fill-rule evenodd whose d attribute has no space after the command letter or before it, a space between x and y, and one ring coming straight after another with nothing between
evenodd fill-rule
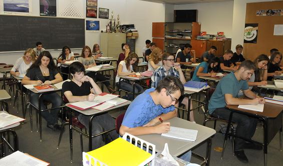
<instances>
[{"instance_id":1,"label":"desk with red folder, used by boy in black t-shirt","mask_svg":"<svg viewBox=\"0 0 283 166\"><path fill-rule=\"evenodd\" d=\"M94 108L89 108L89 109L86 109L86 110L80 110L80 109L76 109L76 108L73 108L73 107L70 107L69 104L70 103L67 103L66 106L68 107L68 110L70 111L69 113L69 119L72 119L72 111L77 111L79 113L82 113L84 115L88 115L90 116L90 119L89 119L89 151L93 150L92 149L92 137L95 137L95 136L98 136L98 135L101 135L105 132L108 132L108 131L105 131L105 132L102 132L102 133L99 133L99 134L96 134L96 135L91 135L90 134L92 133L92 120L95 116L99 116L101 114L105 114L109 111L112 111L112 110L115 110L117 108L121 108L122 106L125 106L125 105L129 105L131 103L131 101L127 101L127 102L124 102L124 103L121 103L119 105L116 105L116 106L113 106L111 108L108 108L108 109L105 109L105 110L98 110L98 109L94 109ZM69 120L69 133L70 133L70 152L71 152L71 162L73 161L73 131L72 131L72 120Z\"/></svg>"}]
</instances>

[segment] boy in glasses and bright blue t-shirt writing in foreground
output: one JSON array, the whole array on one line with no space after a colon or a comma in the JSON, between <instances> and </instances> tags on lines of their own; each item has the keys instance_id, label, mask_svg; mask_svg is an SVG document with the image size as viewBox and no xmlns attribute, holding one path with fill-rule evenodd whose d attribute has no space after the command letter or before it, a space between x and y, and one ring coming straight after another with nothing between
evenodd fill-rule
<instances>
[{"instance_id":1,"label":"boy in glasses and bright blue t-shirt writing in foreground","mask_svg":"<svg viewBox=\"0 0 283 166\"><path fill-rule=\"evenodd\" d=\"M175 103L184 93L184 86L179 78L166 76L160 80L156 88L149 88L137 96L129 105L119 133L128 132L133 135L166 133L170 130L170 122L165 122L177 115ZM162 121L160 122L159 118ZM191 151L183 154L182 159L190 161Z\"/></svg>"}]
</instances>

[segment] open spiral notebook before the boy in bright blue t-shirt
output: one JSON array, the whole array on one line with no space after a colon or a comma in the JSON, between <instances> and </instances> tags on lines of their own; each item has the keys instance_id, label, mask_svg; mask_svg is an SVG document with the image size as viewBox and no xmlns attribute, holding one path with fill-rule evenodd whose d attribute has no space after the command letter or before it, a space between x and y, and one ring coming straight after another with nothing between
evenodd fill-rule
<instances>
[{"instance_id":1,"label":"open spiral notebook before the boy in bright blue t-shirt","mask_svg":"<svg viewBox=\"0 0 283 166\"><path fill-rule=\"evenodd\" d=\"M161 135L177 139L195 141L197 130L170 126L170 131L168 131L167 133L162 133Z\"/></svg>"}]
</instances>

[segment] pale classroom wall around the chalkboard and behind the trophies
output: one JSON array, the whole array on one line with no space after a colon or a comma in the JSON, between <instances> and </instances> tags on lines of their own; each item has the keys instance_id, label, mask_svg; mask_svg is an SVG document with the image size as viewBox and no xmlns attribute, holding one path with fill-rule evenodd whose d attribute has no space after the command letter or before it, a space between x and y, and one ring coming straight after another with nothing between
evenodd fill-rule
<instances>
[{"instance_id":1,"label":"pale classroom wall around the chalkboard and behind the trophies","mask_svg":"<svg viewBox=\"0 0 283 166\"><path fill-rule=\"evenodd\" d=\"M86 0L80 0L86 6ZM59 0L57 0L57 15L59 15ZM32 0L32 13L31 15L39 16L40 2L39 0ZM136 29L139 32L139 37L136 39L136 52L139 56L142 56L141 48L145 45L146 39L151 39L152 22L163 22L165 20L165 4L148 2L142 0L98 0L98 7L109 8L109 18L111 17L112 10L114 11L114 17L117 18L117 14L120 15L121 24L135 24ZM86 8L83 8L84 18L86 18ZM91 48L94 43L100 43L100 31L106 29L108 19L101 18L86 18L86 20L100 20L99 31L86 31L85 43ZM44 44L44 43L43 43ZM62 45L63 47L63 45ZM47 48L48 49L48 48ZM103 48L101 48L103 51ZM72 50L75 53L80 53L81 50ZM54 57L58 57L61 50L51 50L51 54ZM1 62L14 64L16 59L23 55L21 52L8 52L0 53Z\"/></svg>"}]
</instances>

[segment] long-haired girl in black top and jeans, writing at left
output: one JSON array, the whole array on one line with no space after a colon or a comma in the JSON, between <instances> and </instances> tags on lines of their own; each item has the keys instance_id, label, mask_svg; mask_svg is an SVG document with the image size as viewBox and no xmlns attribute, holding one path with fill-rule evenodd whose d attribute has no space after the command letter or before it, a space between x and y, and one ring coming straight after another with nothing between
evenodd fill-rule
<instances>
[{"instance_id":1,"label":"long-haired girl in black top and jeans, writing at left","mask_svg":"<svg viewBox=\"0 0 283 166\"><path fill-rule=\"evenodd\" d=\"M55 84L61 81L63 81L63 78L52 60L50 52L45 50L40 53L38 59L28 69L22 84ZM40 93L31 92L31 102L36 107L39 105L39 95ZM62 106L62 98L56 92L44 94L43 100L52 102L52 108ZM39 108L41 110L47 109L43 100L41 101L41 108ZM41 115L47 121L47 127L52 130L61 129L57 120L59 110L60 108L41 112Z\"/></svg>"}]
</instances>

